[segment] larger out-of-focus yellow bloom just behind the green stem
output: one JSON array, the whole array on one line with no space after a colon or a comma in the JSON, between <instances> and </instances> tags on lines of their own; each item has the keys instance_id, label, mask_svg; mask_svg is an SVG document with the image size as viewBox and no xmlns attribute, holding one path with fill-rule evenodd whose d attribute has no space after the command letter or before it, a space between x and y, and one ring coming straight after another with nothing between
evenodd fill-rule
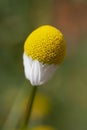
<instances>
[{"instance_id":1,"label":"larger out-of-focus yellow bloom just behind the green stem","mask_svg":"<svg viewBox=\"0 0 87 130\"><path fill-rule=\"evenodd\" d=\"M28 100L26 99L23 110L26 109L27 102ZM48 115L50 109L51 104L49 99L43 94L37 93L32 108L31 119L43 118Z\"/></svg>"}]
</instances>

